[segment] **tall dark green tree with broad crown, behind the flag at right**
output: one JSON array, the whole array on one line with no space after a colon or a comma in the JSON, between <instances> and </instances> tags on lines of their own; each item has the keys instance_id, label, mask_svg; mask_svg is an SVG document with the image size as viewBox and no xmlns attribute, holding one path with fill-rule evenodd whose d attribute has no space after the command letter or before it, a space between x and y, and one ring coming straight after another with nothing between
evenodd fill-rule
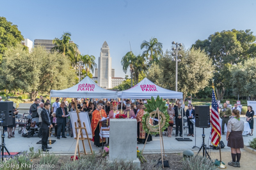
<instances>
[{"instance_id":1,"label":"tall dark green tree with broad crown, behind the flag at right","mask_svg":"<svg viewBox=\"0 0 256 170\"><path fill-rule=\"evenodd\" d=\"M255 56L256 45L253 43L255 39L249 29L246 31L232 29L215 32L208 39L203 41L198 39L193 45L194 48L204 50L212 59L216 70L214 85L218 99L222 100L226 89L231 87L229 68Z\"/></svg>"}]
</instances>

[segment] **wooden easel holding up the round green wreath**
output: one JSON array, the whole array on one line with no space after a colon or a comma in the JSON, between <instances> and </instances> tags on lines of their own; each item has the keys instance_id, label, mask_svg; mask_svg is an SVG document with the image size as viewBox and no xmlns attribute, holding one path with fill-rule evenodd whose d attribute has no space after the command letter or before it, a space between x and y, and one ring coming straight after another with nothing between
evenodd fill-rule
<instances>
[{"instance_id":1,"label":"wooden easel holding up the round green wreath","mask_svg":"<svg viewBox=\"0 0 256 170\"><path fill-rule=\"evenodd\" d=\"M158 118L158 130L159 131L153 131L152 130L152 127L150 127L149 131L148 131L148 136L150 135L150 132L159 132L159 138L160 138L160 146L161 146L161 157L162 157L162 166L164 168L164 159L163 159L163 155L164 155L164 141L163 141L163 132L162 132L162 129L161 129L161 120L160 120L160 115L159 115L159 108L156 109L156 113L154 115L154 118L156 117L156 114L157 114L157 118ZM154 119L153 119L154 120ZM148 123L148 122L147 122ZM142 124L142 123L141 123ZM147 143L147 140L148 140L148 136L147 136L147 139L145 141L145 144L143 146L143 150L142 150L142 153L144 151L144 148L146 146L146 143ZM163 147L163 149L162 149Z\"/></svg>"}]
</instances>

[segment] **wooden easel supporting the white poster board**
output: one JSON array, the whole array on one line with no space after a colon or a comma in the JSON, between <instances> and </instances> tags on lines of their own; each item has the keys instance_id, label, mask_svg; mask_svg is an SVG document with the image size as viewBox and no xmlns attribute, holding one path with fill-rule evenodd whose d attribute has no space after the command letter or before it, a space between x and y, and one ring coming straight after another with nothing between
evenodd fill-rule
<instances>
[{"instance_id":1,"label":"wooden easel supporting the white poster board","mask_svg":"<svg viewBox=\"0 0 256 170\"><path fill-rule=\"evenodd\" d=\"M76 100L77 100L77 99L75 99L76 113L77 113L77 124L76 124L76 122L75 122L75 129L76 129L76 138L75 138L75 139L76 139L76 149L75 149L75 153L74 153L74 158L73 158L73 160L76 160L76 152L77 152L77 149L78 149L78 156L80 157L80 153L81 153L81 152L80 152L80 150L79 150L79 140L81 140L82 143L83 143L84 155L86 155L86 150L85 150L85 146L84 146L84 140L85 140L85 139L88 140L88 143L89 143L89 146L90 146L90 150L91 150L91 153L87 153L87 154L92 154L92 153L93 153L93 152L92 152L92 145L91 145L91 143L90 143L90 138L88 137L88 133L87 133L86 126L85 126L84 122L83 122L84 127L81 126L81 121L80 121L80 117L79 117L79 112L80 112L80 111L77 109ZM78 127L77 127L77 125L78 125ZM78 129L78 132L77 132L77 129ZM86 138L83 137L83 129L84 129L84 131L86 132ZM81 136L81 138L80 138L79 136Z\"/></svg>"}]
</instances>

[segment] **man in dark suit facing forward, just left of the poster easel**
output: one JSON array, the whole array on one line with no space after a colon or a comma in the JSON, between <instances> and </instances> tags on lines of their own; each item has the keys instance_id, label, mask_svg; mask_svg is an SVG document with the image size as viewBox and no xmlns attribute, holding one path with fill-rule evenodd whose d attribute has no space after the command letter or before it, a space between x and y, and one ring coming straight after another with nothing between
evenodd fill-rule
<instances>
[{"instance_id":1,"label":"man in dark suit facing forward, just left of the poster easel","mask_svg":"<svg viewBox=\"0 0 256 170\"><path fill-rule=\"evenodd\" d=\"M56 118L58 124L58 131L57 131L57 139L60 139L60 134L62 132L62 138L67 138L65 136L65 127L66 127L66 118L68 115L67 108L65 108L65 103L61 102L60 108L56 110Z\"/></svg>"}]
</instances>

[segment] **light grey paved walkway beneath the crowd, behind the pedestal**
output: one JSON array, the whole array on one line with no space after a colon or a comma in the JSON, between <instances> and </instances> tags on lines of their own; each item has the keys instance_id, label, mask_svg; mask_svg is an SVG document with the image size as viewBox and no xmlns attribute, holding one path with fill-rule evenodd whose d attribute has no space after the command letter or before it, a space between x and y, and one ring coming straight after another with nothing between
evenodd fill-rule
<instances>
[{"instance_id":1,"label":"light grey paved walkway beneath the crowd, behind the pedestal","mask_svg":"<svg viewBox=\"0 0 256 170\"><path fill-rule=\"evenodd\" d=\"M244 119L244 118L243 118ZM256 118L255 118L256 119ZM256 129L256 125L254 124L254 129ZM166 136L163 137L164 141L164 150L165 152L172 153L172 152L177 152L180 153L184 150L193 150L194 152L198 151L198 148L192 149L193 146L198 146L200 147L202 145L202 131L203 129L201 128L194 128L196 131L196 137L189 137L193 141L177 141L175 139L175 136L172 136L172 138L168 138ZM211 139L209 139L211 129L205 129L205 144L211 145ZM7 133L5 133L7 134ZM125 135L125 133L124 133ZM256 132L254 132L253 136L244 136L244 145L248 145L249 140L252 140L253 137L256 137ZM184 138L188 138L186 132L184 132ZM57 139L55 137L51 137L52 140L56 140L54 144L52 144L52 149L51 153L56 153L56 154L72 154L74 153L74 150L76 148L76 140L74 138L70 138L68 136L66 139L61 138ZM159 137L152 136L153 141L150 141L147 143L145 146L145 151L144 153L159 153L161 148L160 148L160 140ZM196 144L195 144L195 139L196 139ZM41 148L41 145L36 144L40 140L40 138L23 138L18 132L15 132L15 138L8 139L7 136L4 138L5 143L6 143L6 148L8 148L9 152L20 152L24 150L29 150L30 147L34 147L35 150L38 150ZM222 149L222 152L230 152L230 148L227 147L227 141L226 137L224 136L223 139L221 139L225 143L225 148ZM79 141L81 144L81 141ZM88 141L84 141L85 146L86 146L86 151L89 152L90 148L88 145ZM93 142L91 141L93 151L95 153L99 152L99 148L96 148L95 145L93 145ZM139 150L143 149L143 144L138 144ZM82 150L82 145L80 145L80 149ZM211 150L211 152L218 152L218 150Z\"/></svg>"}]
</instances>

